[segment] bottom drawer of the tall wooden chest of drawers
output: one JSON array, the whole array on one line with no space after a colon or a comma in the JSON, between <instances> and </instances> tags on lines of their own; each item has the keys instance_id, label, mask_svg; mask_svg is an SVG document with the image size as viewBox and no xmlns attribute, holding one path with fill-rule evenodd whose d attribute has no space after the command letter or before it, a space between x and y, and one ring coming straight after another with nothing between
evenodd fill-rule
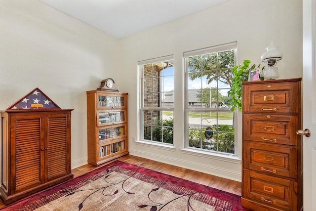
<instances>
[{"instance_id":1,"label":"bottom drawer of the tall wooden chest of drawers","mask_svg":"<svg viewBox=\"0 0 316 211\"><path fill-rule=\"evenodd\" d=\"M297 188L297 182L243 170L243 197L260 204L297 210Z\"/></svg>"}]
</instances>

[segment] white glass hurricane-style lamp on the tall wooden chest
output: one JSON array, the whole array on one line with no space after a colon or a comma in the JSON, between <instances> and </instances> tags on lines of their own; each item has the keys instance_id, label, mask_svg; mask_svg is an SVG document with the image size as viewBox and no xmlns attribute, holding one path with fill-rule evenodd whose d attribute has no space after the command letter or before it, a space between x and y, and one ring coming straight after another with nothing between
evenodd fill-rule
<instances>
[{"instance_id":1,"label":"white glass hurricane-style lamp on the tall wooden chest","mask_svg":"<svg viewBox=\"0 0 316 211\"><path fill-rule=\"evenodd\" d=\"M277 50L277 46L271 45L266 47L266 52L264 52L261 56L261 60L263 62L267 62L268 67L265 69L263 73L263 77L265 80L277 79L279 77L277 72L276 62L281 60L283 57L283 53Z\"/></svg>"}]
</instances>

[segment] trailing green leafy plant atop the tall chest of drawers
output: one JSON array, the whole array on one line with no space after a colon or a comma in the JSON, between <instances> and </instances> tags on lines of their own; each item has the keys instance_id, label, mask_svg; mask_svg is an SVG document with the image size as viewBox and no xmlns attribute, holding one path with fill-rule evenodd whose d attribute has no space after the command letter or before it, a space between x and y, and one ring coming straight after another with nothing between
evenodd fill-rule
<instances>
[{"instance_id":1,"label":"trailing green leafy plant atop the tall chest of drawers","mask_svg":"<svg viewBox=\"0 0 316 211\"><path fill-rule=\"evenodd\" d=\"M262 71L265 67L259 71L259 80L263 81ZM229 100L227 101L232 105L232 111L237 107L239 111L242 108L242 82L248 81L249 73L254 70L260 70L260 64L258 66L251 65L250 60L243 60L243 65L235 66L233 68L233 81L232 87L228 91Z\"/></svg>"}]
</instances>

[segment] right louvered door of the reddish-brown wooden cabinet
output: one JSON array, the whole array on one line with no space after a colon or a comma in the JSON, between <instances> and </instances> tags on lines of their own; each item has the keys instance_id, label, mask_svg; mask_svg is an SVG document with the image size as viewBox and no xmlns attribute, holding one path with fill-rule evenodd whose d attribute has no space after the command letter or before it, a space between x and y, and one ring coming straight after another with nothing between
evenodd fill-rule
<instances>
[{"instance_id":1,"label":"right louvered door of the reddish-brown wooden cabinet","mask_svg":"<svg viewBox=\"0 0 316 211\"><path fill-rule=\"evenodd\" d=\"M47 115L47 181L69 174L70 167L70 115Z\"/></svg>"}]
</instances>

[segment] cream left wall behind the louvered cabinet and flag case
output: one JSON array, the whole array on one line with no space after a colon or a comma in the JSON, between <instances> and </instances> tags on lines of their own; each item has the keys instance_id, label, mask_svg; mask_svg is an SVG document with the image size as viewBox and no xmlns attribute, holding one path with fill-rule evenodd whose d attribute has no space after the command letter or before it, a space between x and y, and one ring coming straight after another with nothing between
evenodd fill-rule
<instances>
[{"instance_id":1,"label":"cream left wall behind the louvered cabinet and flag case","mask_svg":"<svg viewBox=\"0 0 316 211\"><path fill-rule=\"evenodd\" d=\"M0 0L0 110L39 87L74 109L72 167L86 164L86 91L116 80L117 48L117 39L38 0Z\"/></svg>"}]
</instances>

